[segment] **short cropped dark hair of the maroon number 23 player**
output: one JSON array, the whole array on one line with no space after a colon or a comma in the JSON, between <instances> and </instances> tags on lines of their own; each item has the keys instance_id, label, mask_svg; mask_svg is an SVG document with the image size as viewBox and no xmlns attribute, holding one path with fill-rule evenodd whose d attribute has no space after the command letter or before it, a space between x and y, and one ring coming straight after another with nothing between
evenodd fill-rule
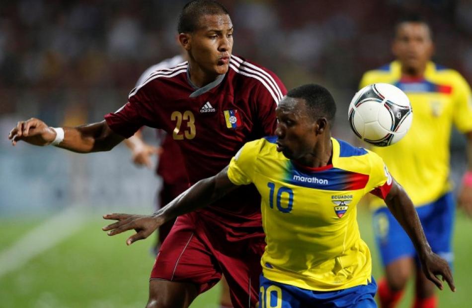
<instances>
[{"instance_id":1,"label":"short cropped dark hair of the maroon number 23 player","mask_svg":"<svg viewBox=\"0 0 472 308\"><path fill-rule=\"evenodd\" d=\"M223 4L212 0L193 0L185 4L179 15L178 33L192 33L197 30L200 17L204 15L229 15Z\"/></svg>"}]
</instances>

